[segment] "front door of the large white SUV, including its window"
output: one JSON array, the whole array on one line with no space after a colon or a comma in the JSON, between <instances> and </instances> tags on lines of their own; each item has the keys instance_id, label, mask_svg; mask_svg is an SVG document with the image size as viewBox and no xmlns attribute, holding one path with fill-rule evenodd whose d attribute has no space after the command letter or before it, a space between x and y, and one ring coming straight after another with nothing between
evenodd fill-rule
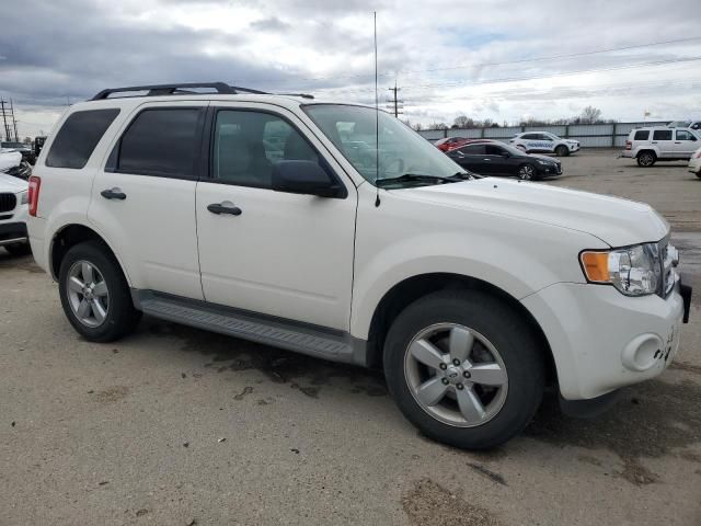
<instances>
[{"instance_id":1,"label":"front door of the large white SUV, including its window","mask_svg":"<svg viewBox=\"0 0 701 526\"><path fill-rule=\"evenodd\" d=\"M355 186L330 156L331 162L323 160L323 146L300 132L306 125L292 113L226 103L212 113L210 173L197 185L196 205L205 299L347 331ZM280 160L319 162L347 196L273 191L271 174Z\"/></svg>"}]
</instances>

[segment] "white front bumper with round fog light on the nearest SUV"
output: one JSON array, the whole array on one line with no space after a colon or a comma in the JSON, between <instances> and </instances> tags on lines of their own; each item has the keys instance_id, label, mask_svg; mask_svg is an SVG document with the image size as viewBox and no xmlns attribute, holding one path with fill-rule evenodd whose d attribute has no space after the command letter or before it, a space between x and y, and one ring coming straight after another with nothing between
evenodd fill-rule
<instances>
[{"instance_id":1,"label":"white front bumper with round fog light on the nearest SUV","mask_svg":"<svg viewBox=\"0 0 701 526\"><path fill-rule=\"evenodd\" d=\"M678 284L665 299L634 298L608 285L559 283L521 302L550 343L562 397L587 400L667 368L679 346L690 293Z\"/></svg>"}]
</instances>

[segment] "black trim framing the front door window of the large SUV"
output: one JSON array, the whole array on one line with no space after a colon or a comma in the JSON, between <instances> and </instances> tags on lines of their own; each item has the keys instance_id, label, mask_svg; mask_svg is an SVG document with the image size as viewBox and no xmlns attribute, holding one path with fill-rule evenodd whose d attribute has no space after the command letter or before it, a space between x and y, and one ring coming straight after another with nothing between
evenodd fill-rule
<instances>
[{"instance_id":1,"label":"black trim framing the front door window of the large SUV","mask_svg":"<svg viewBox=\"0 0 701 526\"><path fill-rule=\"evenodd\" d=\"M276 118L279 118L279 119L284 121L294 130L296 130L302 137L302 139L304 139L304 141L314 151L314 153L317 153L317 156L319 156L319 159L321 161L321 167L326 171L326 173L329 175L331 175L331 178L337 184L341 185L341 191L333 198L335 198L335 199L345 199L345 198L348 197L348 187L346 186L345 181L343 181L343 178L338 176L336 171L333 169L333 167L326 160L326 157L323 156L319 151L319 148L317 148L309 140L307 135L303 134L299 129L299 126L295 125L295 123L292 123L286 115L283 115L283 114L278 113L276 111L268 110L268 108L263 108L263 107L261 107L261 108L258 108L258 107L237 107L237 106L226 106L226 105L223 105L223 106L222 105L209 106L208 112L207 112L207 119L206 119L206 124L205 124L205 126L209 128L209 133L205 134L205 140L203 140L203 142L202 142L203 162L200 162L200 169L202 169L202 173L203 173L204 176L200 179L200 181L207 182L207 183L214 183L214 184L226 184L228 186L240 186L240 187L244 187L244 188L261 188L261 190L267 190L269 192L275 192L273 188L267 187L267 186L256 185L256 184L241 184L241 183L234 183L234 182L231 182L231 181L222 181L222 180L216 179L214 176L214 165L212 165L214 163L211 162L211 160L214 158L217 114L219 112L265 113L267 115L272 115L272 116L274 116ZM207 128L205 128L205 129L207 129ZM287 193L287 192L283 192L283 193Z\"/></svg>"}]
</instances>

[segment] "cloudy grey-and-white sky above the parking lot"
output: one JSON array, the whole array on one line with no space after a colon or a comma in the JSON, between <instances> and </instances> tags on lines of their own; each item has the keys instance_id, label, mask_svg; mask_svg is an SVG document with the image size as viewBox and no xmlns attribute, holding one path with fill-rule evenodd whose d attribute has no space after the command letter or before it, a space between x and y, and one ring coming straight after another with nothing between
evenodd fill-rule
<instances>
[{"instance_id":1,"label":"cloudy grey-and-white sky above the parking lot","mask_svg":"<svg viewBox=\"0 0 701 526\"><path fill-rule=\"evenodd\" d=\"M22 136L107 87L223 80L372 103L413 123L701 117L698 0L23 0L0 18L0 96Z\"/></svg>"}]
</instances>

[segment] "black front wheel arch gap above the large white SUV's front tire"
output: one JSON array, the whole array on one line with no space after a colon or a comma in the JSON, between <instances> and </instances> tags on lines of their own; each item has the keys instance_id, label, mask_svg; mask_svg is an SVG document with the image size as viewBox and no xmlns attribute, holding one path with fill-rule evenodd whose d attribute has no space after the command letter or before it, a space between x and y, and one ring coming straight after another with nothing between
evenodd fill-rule
<instances>
[{"instance_id":1,"label":"black front wheel arch gap above the large white SUV's front tire","mask_svg":"<svg viewBox=\"0 0 701 526\"><path fill-rule=\"evenodd\" d=\"M410 304L441 289L480 290L505 301L525 319L535 338L540 342L547 363L547 380L556 381L555 361L542 328L526 307L506 290L475 277L452 273L429 273L407 277L391 287L377 305L370 321L366 362L370 367L381 367L387 331Z\"/></svg>"}]
</instances>

